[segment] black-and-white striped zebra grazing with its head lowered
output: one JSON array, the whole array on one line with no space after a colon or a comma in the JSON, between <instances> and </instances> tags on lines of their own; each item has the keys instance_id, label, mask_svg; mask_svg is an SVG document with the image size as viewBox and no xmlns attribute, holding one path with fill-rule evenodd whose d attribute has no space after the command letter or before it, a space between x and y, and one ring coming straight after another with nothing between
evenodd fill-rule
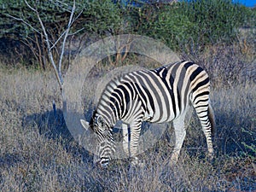
<instances>
[{"instance_id":1,"label":"black-and-white striped zebra grazing with its head lowered","mask_svg":"<svg viewBox=\"0 0 256 192\"><path fill-rule=\"evenodd\" d=\"M113 125L122 120L123 148L131 165L140 165L137 148L143 121L173 123L175 143L171 161L177 162L186 135L184 119L193 107L213 157L215 119L210 103L210 81L205 70L191 61L179 61L153 70L138 70L112 79L102 91L85 129L96 133L96 163L107 167L115 152Z\"/></svg>"}]
</instances>

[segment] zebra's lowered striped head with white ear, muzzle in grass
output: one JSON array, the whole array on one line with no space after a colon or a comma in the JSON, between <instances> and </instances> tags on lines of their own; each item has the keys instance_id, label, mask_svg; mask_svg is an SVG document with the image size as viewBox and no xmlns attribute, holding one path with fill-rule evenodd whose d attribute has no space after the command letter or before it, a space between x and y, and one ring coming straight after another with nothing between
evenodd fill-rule
<instances>
[{"instance_id":1,"label":"zebra's lowered striped head with white ear, muzzle in grass","mask_svg":"<svg viewBox=\"0 0 256 192\"><path fill-rule=\"evenodd\" d=\"M90 123L84 119L80 119L80 121L86 130L91 129L96 133L94 164L100 165L102 168L107 167L114 153L112 128L109 127L102 116L97 113L90 119Z\"/></svg>"}]
</instances>

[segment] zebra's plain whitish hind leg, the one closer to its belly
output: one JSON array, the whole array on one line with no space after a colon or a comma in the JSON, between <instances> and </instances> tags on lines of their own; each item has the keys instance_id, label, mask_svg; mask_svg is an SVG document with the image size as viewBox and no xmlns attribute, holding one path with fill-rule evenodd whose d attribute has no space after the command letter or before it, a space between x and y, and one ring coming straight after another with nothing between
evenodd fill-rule
<instances>
[{"instance_id":1,"label":"zebra's plain whitish hind leg, the one closer to its belly","mask_svg":"<svg viewBox=\"0 0 256 192\"><path fill-rule=\"evenodd\" d=\"M175 141L174 141L174 148L173 148L172 156L171 156L171 164L177 163L178 156L180 154L180 150L183 146L183 141L186 136L184 119L185 119L185 114L183 114L179 118L174 119L172 121L173 128L174 128Z\"/></svg>"}]
</instances>

